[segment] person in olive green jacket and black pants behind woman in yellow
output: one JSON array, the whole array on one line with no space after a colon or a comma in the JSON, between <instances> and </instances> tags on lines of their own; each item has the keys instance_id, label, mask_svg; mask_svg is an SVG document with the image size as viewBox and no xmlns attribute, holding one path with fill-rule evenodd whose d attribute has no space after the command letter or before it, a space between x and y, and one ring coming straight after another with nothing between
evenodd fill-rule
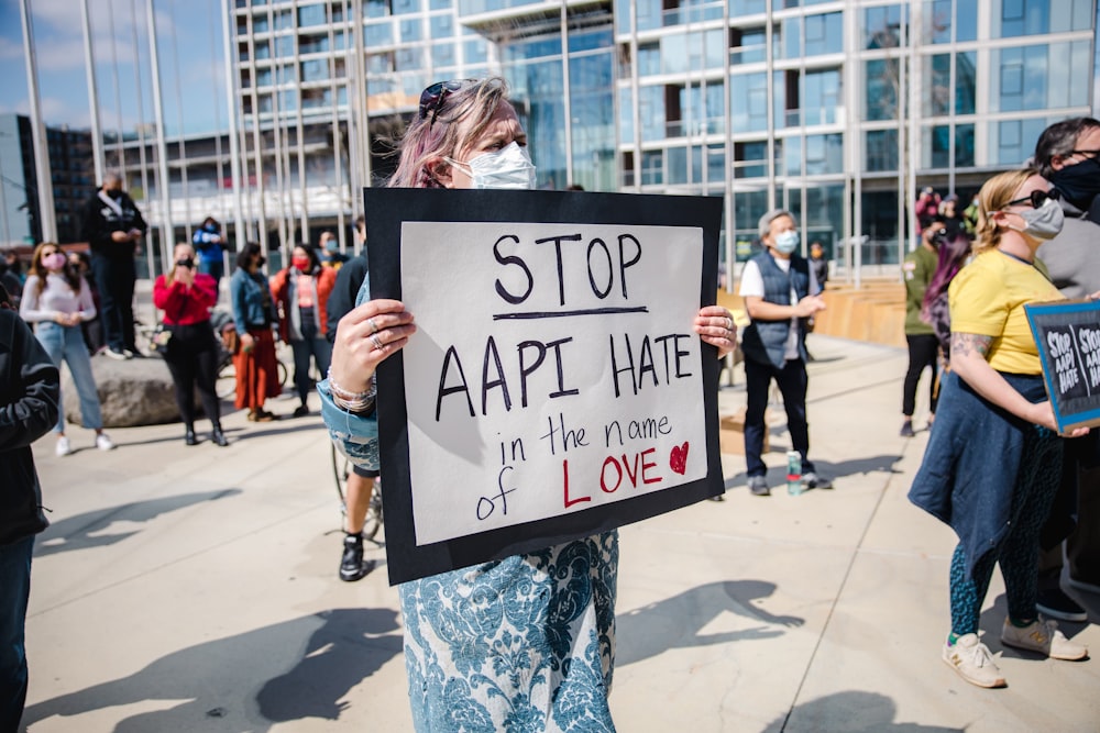
<instances>
[{"instance_id":1,"label":"person in olive green jacket and black pants behind woman in yellow","mask_svg":"<svg viewBox=\"0 0 1100 733\"><path fill-rule=\"evenodd\" d=\"M902 275L905 281L905 343L909 344L909 369L902 387L901 434L912 437L913 412L916 409L916 385L925 367L932 369L928 380L928 424L936 414L936 354L939 341L932 325L921 319L924 292L939 265L939 243L947 236L947 222L939 214L933 216L921 232L921 245L905 256Z\"/></svg>"}]
</instances>

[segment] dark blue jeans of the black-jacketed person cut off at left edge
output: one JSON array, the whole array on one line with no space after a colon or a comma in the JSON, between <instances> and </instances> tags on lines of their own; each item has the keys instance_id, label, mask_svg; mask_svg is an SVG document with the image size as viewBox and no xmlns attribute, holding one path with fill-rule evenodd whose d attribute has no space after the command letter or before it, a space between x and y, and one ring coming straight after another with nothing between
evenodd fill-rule
<instances>
[{"instance_id":1,"label":"dark blue jeans of the black-jacketed person cut off at left edge","mask_svg":"<svg viewBox=\"0 0 1100 733\"><path fill-rule=\"evenodd\" d=\"M34 536L0 545L0 731L19 730L26 702L26 599Z\"/></svg>"}]
</instances>

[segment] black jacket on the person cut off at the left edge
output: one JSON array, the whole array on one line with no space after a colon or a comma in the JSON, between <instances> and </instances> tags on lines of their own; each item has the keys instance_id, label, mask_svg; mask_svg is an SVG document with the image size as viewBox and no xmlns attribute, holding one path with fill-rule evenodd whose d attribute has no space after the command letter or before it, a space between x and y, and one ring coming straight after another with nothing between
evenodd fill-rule
<instances>
[{"instance_id":1,"label":"black jacket on the person cut off at the left edge","mask_svg":"<svg viewBox=\"0 0 1100 733\"><path fill-rule=\"evenodd\" d=\"M0 308L0 545L46 529L31 444L57 424L57 367L14 311Z\"/></svg>"}]
</instances>

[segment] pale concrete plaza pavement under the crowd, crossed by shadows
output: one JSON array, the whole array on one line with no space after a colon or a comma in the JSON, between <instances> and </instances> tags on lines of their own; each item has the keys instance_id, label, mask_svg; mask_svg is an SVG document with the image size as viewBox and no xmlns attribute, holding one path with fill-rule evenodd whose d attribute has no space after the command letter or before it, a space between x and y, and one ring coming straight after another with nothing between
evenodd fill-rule
<instances>
[{"instance_id":1,"label":"pale concrete plaza pavement under the crowd, crossed by shadows","mask_svg":"<svg viewBox=\"0 0 1100 733\"><path fill-rule=\"evenodd\" d=\"M905 355L820 335L810 347L811 454L836 488L754 497L744 458L724 455L725 501L623 529L618 730L1100 730L1094 660L1004 648L1003 690L941 662L955 542L905 499L927 440L898 436ZM740 374L721 403L745 403ZM224 449L186 447L179 425L111 431L106 454L81 429L75 455L35 446L53 526L28 619L32 733L410 730L396 590L383 569L337 579L320 419L223 423ZM773 426L777 486L788 446ZM1100 621L1100 597L1078 598ZM994 653L1003 615L996 576ZM1063 628L1100 653L1097 626Z\"/></svg>"}]
</instances>

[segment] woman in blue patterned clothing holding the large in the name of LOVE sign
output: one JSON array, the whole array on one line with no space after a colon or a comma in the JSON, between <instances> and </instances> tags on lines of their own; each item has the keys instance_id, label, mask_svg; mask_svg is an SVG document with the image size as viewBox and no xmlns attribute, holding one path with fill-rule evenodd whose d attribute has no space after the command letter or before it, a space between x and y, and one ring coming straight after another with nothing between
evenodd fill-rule
<instances>
[{"instance_id":1,"label":"woman in blue patterned clothing holding the large in the name of LOVE sign","mask_svg":"<svg viewBox=\"0 0 1100 733\"><path fill-rule=\"evenodd\" d=\"M392 187L535 187L527 135L502 79L433 84L402 143ZM415 337L413 314L369 300L340 321L326 423L349 455L378 468L377 365ZM694 331L725 355L735 346L724 308ZM614 730L607 693L615 658L618 534L515 555L403 584L405 660L417 731Z\"/></svg>"}]
</instances>

